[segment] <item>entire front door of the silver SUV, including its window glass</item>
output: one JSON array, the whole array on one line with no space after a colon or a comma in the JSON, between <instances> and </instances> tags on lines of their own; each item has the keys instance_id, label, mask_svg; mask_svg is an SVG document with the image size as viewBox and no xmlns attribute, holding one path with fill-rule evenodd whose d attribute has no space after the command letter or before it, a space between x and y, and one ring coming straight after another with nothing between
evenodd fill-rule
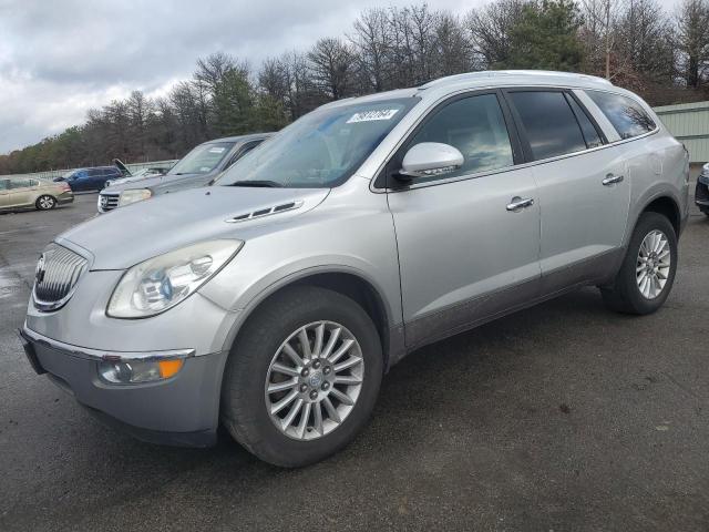
<instances>
[{"instance_id":1,"label":"entire front door of the silver SUV, including its window glass","mask_svg":"<svg viewBox=\"0 0 709 532\"><path fill-rule=\"evenodd\" d=\"M389 193L409 347L538 291L536 185L530 168L514 167L516 137L505 119L495 93L455 98L434 110L392 160L420 142L445 143L463 155L460 170ZM523 198L526 207L508 209Z\"/></svg>"}]
</instances>

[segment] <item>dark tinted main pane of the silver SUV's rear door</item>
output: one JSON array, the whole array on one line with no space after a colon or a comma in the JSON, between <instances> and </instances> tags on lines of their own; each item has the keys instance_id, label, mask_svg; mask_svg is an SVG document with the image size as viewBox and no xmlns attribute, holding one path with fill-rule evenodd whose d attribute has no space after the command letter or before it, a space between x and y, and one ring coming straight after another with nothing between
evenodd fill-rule
<instances>
[{"instance_id":1,"label":"dark tinted main pane of the silver SUV's rear door","mask_svg":"<svg viewBox=\"0 0 709 532\"><path fill-rule=\"evenodd\" d=\"M534 161L587 149L584 134L562 91L508 93Z\"/></svg>"}]
</instances>

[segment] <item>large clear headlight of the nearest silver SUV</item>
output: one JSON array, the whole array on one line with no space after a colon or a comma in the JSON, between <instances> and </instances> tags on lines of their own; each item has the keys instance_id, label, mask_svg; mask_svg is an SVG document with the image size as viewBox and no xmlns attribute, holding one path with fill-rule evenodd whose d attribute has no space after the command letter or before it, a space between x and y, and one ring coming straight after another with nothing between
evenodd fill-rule
<instances>
[{"instance_id":1,"label":"large clear headlight of the nearest silver SUV","mask_svg":"<svg viewBox=\"0 0 709 532\"><path fill-rule=\"evenodd\" d=\"M204 242L136 264L121 277L106 314L145 318L174 307L209 280L243 245L240 241Z\"/></svg>"}]
</instances>

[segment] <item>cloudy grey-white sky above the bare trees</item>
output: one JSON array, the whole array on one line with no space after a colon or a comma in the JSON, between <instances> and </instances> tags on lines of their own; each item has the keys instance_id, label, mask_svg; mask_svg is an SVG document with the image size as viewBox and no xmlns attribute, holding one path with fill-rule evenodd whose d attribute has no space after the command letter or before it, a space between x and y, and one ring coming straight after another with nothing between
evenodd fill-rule
<instances>
[{"instance_id":1,"label":"cloudy grey-white sky above the bare trees","mask_svg":"<svg viewBox=\"0 0 709 532\"><path fill-rule=\"evenodd\" d=\"M88 109L133 90L163 94L199 57L225 51L257 66L342 35L363 9L413 2L0 0L0 153L80 124ZM429 0L454 12L483 3Z\"/></svg>"}]
</instances>

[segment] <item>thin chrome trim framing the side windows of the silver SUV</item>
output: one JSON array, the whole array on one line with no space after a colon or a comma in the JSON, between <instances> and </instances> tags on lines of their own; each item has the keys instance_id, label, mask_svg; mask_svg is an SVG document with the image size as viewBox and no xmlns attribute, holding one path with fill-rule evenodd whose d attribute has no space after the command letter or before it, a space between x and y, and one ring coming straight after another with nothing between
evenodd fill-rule
<instances>
[{"instance_id":1,"label":"thin chrome trim framing the side windows of the silver SUV","mask_svg":"<svg viewBox=\"0 0 709 532\"><path fill-rule=\"evenodd\" d=\"M538 89L556 89L556 90L569 90L569 91L574 91L574 90L578 90L579 88L577 86L563 86L563 85L530 85L530 86L534 86L534 88L538 88ZM522 89L521 85L504 85L504 86L496 86L495 89L514 89L514 88L520 88ZM476 172L476 173L472 173L472 174L465 174L465 175L456 175L454 177L449 177L449 178L440 178L436 181L430 181L427 183L419 183L419 184L411 184L410 186L405 186L402 188L390 188L390 187L377 187L374 186L374 182L377 181L377 176L382 172L382 170L384 168L384 166L389 163L389 161L391 160L391 157L397 153L397 151L399 151L399 149L401 147L401 145L409 139L409 136L411 135L412 131L415 130L419 124L425 120L429 114L431 112L433 112L438 105L440 103L443 103L445 100L449 100L451 98L461 95L461 94L465 94L465 93L470 93L471 96L475 95L475 93L480 93L480 92L486 92L490 91L491 88L475 88L475 89L463 89L460 91L455 91L455 92L451 92L449 94L445 94L444 96L439 98L438 100L435 100L434 102L432 102L429 105L429 109L423 112L421 114L421 116L419 116L417 119L417 121L407 130L407 132L401 136L401 139L397 142L394 149L387 155L387 157L384 157L384 160L382 161L382 163L379 165L377 172L374 173L374 175L370 178L369 182L369 190L376 194L393 194L393 193L401 193L401 192L407 192L407 191L413 191L417 188L423 188L427 186L435 186L435 185L443 185L443 184L448 184L448 183L456 183L459 181L467 181L467 180L476 180L480 177L486 177L489 175L495 175L495 174L500 174L502 172L510 172L512 170L518 170L518 168L528 168L532 166L537 166L540 164L547 164L547 163L553 163L556 161L562 161L565 158L569 158L569 157L577 157L579 155L585 155L587 153L592 153L592 152L596 152L599 150L606 150L609 149L612 146L617 146L619 144L625 144L628 142L635 142L638 141L640 139L645 139L648 137L650 135L655 135L660 131L659 125L656 123L656 127L653 131L648 131L647 133L644 133L641 135L638 136L633 136L630 139L620 139L618 141L613 141L613 142L608 142L606 144L603 144L600 146L596 146L596 147L590 147L590 149L586 149L586 150L579 150L577 152L572 152L572 153L565 153L563 155L556 155L554 157L548 157L548 158L542 158L540 161L530 161L526 163L522 163L522 164L513 164L511 166L504 166L502 168L496 168L493 171L486 171L486 172ZM580 89L580 90L586 90L586 89ZM619 92L614 92L614 91L607 91L607 90L602 90L602 89L593 89L593 90L597 90L599 92L608 92L612 94L618 94L621 96L625 96L625 94L619 93ZM626 96L629 98L629 96ZM643 105L640 102L637 102L638 104L640 104L644 109L645 105ZM584 102L584 106L585 102ZM604 114L605 116L605 114ZM615 129L614 129L615 130Z\"/></svg>"}]
</instances>

